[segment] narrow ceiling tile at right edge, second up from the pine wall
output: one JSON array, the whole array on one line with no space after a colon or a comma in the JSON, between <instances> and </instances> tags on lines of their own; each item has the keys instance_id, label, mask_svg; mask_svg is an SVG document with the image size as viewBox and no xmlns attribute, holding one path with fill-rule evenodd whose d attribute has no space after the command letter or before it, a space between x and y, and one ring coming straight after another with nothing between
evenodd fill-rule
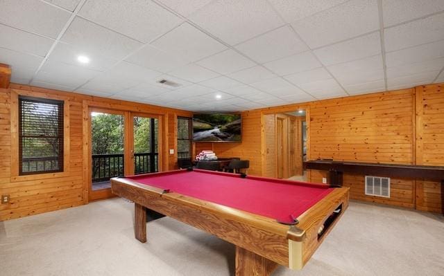
<instances>
[{"instance_id":1,"label":"narrow ceiling tile at right edge, second up from the pine wall","mask_svg":"<svg viewBox=\"0 0 444 276\"><path fill-rule=\"evenodd\" d=\"M417 62L404 66L388 67L387 78L403 77L407 75L418 75L430 71L441 71L444 68L444 57L440 59L428 60L426 62Z\"/></svg>"}]
</instances>

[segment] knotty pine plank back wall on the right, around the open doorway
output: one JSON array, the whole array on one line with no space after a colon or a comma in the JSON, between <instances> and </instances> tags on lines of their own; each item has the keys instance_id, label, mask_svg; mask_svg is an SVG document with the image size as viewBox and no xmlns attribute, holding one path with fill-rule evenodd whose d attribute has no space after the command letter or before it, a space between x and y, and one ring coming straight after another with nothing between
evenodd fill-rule
<instances>
[{"instance_id":1,"label":"knotty pine plank back wall on the right, around the open doorway","mask_svg":"<svg viewBox=\"0 0 444 276\"><path fill-rule=\"evenodd\" d=\"M196 150L213 149L221 157L248 158L250 174L268 175L266 163L262 163L268 147L264 136L267 114L305 109L309 159L444 166L442 87L443 84L431 84L256 109L242 113L240 144L196 143ZM308 180L321 183L323 177L325 172L311 171ZM363 175L345 174L344 183L350 187L352 199L441 212L441 187L436 182L392 178L391 199L366 196Z\"/></svg>"}]
</instances>

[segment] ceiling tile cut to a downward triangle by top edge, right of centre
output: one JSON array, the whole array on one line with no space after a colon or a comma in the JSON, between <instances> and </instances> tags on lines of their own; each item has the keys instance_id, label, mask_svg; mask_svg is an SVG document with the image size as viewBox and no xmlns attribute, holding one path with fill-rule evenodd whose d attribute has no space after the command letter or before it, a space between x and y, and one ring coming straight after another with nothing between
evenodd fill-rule
<instances>
[{"instance_id":1,"label":"ceiling tile cut to a downward triangle by top edge, right of centre","mask_svg":"<svg viewBox=\"0 0 444 276\"><path fill-rule=\"evenodd\" d=\"M309 17L348 0L268 0L288 23Z\"/></svg>"}]
</instances>

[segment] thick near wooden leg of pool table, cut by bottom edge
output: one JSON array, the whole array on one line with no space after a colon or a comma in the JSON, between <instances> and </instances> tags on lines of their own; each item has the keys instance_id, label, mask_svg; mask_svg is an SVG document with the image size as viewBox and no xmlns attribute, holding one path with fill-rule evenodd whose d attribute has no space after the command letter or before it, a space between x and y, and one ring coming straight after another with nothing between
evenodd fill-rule
<instances>
[{"instance_id":1,"label":"thick near wooden leg of pool table, cut by bottom edge","mask_svg":"<svg viewBox=\"0 0 444 276\"><path fill-rule=\"evenodd\" d=\"M269 276L276 268L274 261L236 246L236 276Z\"/></svg>"}]
</instances>

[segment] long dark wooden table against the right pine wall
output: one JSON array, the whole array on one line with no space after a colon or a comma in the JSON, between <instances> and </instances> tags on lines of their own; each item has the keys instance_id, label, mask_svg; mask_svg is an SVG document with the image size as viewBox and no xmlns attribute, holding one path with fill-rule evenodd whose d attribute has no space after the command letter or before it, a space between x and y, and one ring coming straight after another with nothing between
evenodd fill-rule
<instances>
[{"instance_id":1,"label":"long dark wooden table against the right pine wall","mask_svg":"<svg viewBox=\"0 0 444 276\"><path fill-rule=\"evenodd\" d=\"M309 160L304 162L305 169L328 171L330 185L342 185L343 173L373 174L375 176L398 176L405 178L425 178L441 181L441 212L444 214L444 167L360 163L333 160Z\"/></svg>"}]
</instances>

